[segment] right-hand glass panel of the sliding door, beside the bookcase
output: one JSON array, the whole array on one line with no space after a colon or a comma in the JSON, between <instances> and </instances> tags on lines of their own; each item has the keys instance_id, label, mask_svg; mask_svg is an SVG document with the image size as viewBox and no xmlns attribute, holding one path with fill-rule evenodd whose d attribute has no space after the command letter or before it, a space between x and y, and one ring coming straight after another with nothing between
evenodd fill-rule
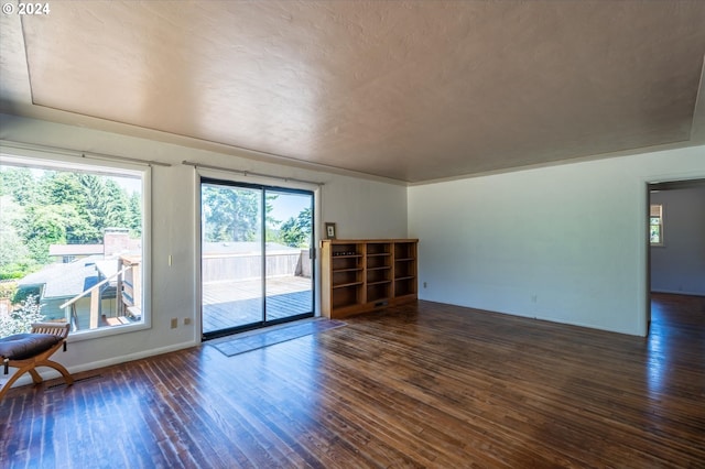
<instances>
[{"instance_id":1,"label":"right-hand glass panel of the sliding door, beside the bookcase","mask_svg":"<svg viewBox=\"0 0 705 469\"><path fill-rule=\"evenodd\" d=\"M313 314L313 195L267 189L268 323Z\"/></svg>"}]
</instances>

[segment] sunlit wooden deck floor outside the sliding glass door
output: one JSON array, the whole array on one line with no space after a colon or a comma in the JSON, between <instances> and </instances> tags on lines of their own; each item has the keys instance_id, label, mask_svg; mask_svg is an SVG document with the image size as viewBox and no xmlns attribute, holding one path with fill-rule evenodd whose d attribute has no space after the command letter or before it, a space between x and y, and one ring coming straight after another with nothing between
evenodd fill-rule
<instances>
[{"instance_id":1,"label":"sunlit wooden deck floor outside the sliding glass door","mask_svg":"<svg viewBox=\"0 0 705 469\"><path fill-rule=\"evenodd\" d=\"M267 319L313 312L311 279L278 276L267 280ZM203 331L212 332L262 320L260 281L218 282L204 285Z\"/></svg>"}]
</instances>

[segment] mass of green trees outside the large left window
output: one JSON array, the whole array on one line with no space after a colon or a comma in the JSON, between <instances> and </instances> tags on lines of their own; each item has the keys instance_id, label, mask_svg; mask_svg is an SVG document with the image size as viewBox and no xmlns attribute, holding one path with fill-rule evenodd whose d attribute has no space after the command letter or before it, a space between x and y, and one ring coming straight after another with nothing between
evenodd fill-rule
<instances>
[{"instance_id":1,"label":"mass of green trees outside the large left window","mask_svg":"<svg viewBox=\"0 0 705 469\"><path fill-rule=\"evenodd\" d=\"M142 231L140 195L97 174L0 166L0 277L48 263L51 244L100 243L106 228Z\"/></svg>"}]
</instances>

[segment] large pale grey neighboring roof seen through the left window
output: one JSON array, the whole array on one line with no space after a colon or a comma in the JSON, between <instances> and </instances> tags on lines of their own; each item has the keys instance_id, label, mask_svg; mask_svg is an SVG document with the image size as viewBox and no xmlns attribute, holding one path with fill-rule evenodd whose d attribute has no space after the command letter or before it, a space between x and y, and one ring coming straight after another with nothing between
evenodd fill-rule
<instances>
[{"instance_id":1,"label":"large pale grey neighboring roof seen through the left window","mask_svg":"<svg viewBox=\"0 0 705 469\"><path fill-rule=\"evenodd\" d=\"M105 262L102 255L91 255L66 264L52 264L25 276L18 285L44 285L44 299L73 298L100 281L98 263L102 265Z\"/></svg>"}]
</instances>

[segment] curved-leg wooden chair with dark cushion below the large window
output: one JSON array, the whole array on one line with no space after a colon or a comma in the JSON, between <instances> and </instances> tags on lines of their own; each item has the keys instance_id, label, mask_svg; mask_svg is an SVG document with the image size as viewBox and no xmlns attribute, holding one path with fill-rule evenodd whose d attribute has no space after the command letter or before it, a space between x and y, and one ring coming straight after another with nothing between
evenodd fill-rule
<instances>
[{"instance_id":1,"label":"curved-leg wooden chair with dark cushion below the large window","mask_svg":"<svg viewBox=\"0 0 705 469\"><path fill-rule=\"evenodd\" d=\"M66 338L69 324L35 323L30 334L15 334L0 339L0 357L4 366L3 374L8 374L10 367L18 371L0 389L0 400L22 374L29 372L34 384L42 382L42 377L36 372L36 367L48 367L58 371L67 385L74 383L73 377L59 363L50 360L50 357L64 347L66 351Z\"/></svg>"}]
</instances>

